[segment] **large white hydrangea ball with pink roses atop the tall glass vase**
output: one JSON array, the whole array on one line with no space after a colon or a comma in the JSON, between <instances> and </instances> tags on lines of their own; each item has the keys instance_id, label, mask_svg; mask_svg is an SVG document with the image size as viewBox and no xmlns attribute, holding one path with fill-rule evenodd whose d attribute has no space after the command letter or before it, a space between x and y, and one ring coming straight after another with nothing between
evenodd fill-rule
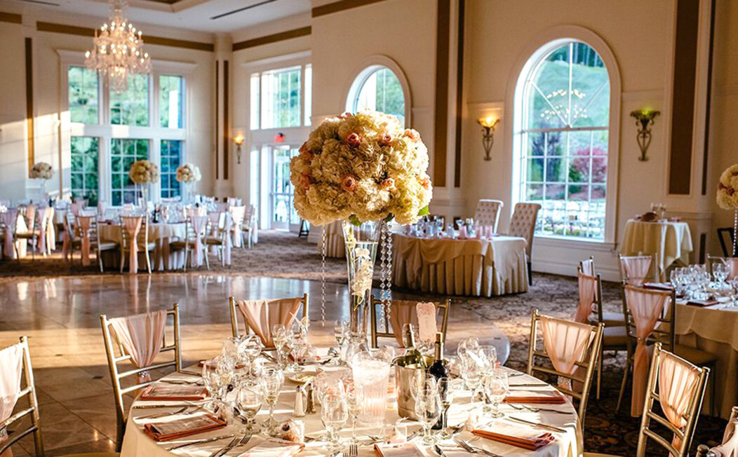
<instances>
[{"instance_id":1,"label":"large white hydrangea ball with pink roses atop the tall glass vase","mask_svg":"<svg viewBox=\"0 0 738 457\"><path fill-rule=\"evenodd\" d=\"M415 223L428 212L432 185L420 134L376 111L325 119L292 158L294 208L317 226L394 217Z\"/></svg>"}]
</instances>

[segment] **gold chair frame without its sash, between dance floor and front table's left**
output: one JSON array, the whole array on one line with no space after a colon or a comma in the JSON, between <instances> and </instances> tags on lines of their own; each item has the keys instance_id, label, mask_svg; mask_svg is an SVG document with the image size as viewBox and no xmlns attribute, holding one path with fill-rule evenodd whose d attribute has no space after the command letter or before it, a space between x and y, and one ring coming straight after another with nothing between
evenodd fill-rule
<instances>
[{"instance_id":1,"label":"gold chair frame without its sash, between dance floor and front table's left","mask_svg":"<svg viewBox=\"0 0 738 457\"><path fill-rule=\"evenodd\" d=\"M171 343L167 343L167 333L162 338L162 346L159 349L159 355L165 352L173 352L173 360L161 363L152 363L148 366L142 366L122 371L123 367L118 366L119 363L131 362L131 355L125 353L123 345L118 341L115 333L111 331L111 324L108 316L100 315L100 324L103 327L103 341L105 343L105 352L108 357L108 368L110 369L110 379L113 384L113 395L115 400L115 415L117 419L116 433L116 450L120 452L123 444L123 436L125 435L125 421L127 418L125 406L123 405L123 395L129 392L137 391L141 388L149 386L154 381L148 380L142 383L134 383L130 386L123 387L121 380L131 376L137 376L151 370L166 369L173 367L175 371L182 371L182 348L180 345L179 332L179 304L174 304L171 310L167 310L167 318L173 318L173 335Z\"/></svg>"}]
</instances>

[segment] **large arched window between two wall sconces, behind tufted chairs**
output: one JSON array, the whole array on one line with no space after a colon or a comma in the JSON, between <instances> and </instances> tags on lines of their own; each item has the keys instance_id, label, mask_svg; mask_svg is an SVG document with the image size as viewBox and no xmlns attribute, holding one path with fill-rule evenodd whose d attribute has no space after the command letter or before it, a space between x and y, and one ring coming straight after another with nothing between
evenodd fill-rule
<instances>
[{"instance_id":1,"label":"large arched window between two wall sconces, behind tufted chairs","mask_svg":"<svg viewBox=\"0 0 738 457\"><path fill-rule=\"evenodd\" d=\"M582 41L549 43L523 67L516 94L514 199L541 203L537 235L604 240L610 75L601 56Z\"/></svg>"}]
</instances>

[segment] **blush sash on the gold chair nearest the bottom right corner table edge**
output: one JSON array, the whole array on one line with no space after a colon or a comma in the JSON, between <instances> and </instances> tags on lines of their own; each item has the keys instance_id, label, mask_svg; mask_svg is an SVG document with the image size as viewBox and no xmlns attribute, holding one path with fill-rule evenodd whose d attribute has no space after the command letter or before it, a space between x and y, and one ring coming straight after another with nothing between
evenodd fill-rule
<instances>
[{"instance_id":1,"label":"blush sash on the gold chair nearest the bottom right corner table edge","mask_svg":"<svg viewBox=\"0 0 738 457\"><path fill-rule=\"evenodd\" d=\"M684 414L699 384L700 369L669 352L661 352L659 358L658 396L661 410L672 425L683 430L687 425ZM681 444L681 439L675 436L672 445L679 449Z\"/></svg>"}]
</instances>

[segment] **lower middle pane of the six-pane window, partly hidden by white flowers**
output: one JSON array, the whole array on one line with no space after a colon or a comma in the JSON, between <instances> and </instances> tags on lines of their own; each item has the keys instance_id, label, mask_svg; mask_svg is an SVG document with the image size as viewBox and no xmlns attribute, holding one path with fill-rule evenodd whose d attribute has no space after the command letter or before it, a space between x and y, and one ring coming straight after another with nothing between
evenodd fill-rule
<instances>
[{"instance_id":1,"label":"lower middle pane of the six-pane window, partly hidden by white flowers","mask_svg":"<svg viewBox=\"0 0 738 457\"><path fill-rule=\"evenodd\" d=\"M134 161L148 158L148 140L145 139L112 139L111 140L111 189L113 206L135 202L135 185L128 177L128 170Z\"/></svg>"}]
</instances>

